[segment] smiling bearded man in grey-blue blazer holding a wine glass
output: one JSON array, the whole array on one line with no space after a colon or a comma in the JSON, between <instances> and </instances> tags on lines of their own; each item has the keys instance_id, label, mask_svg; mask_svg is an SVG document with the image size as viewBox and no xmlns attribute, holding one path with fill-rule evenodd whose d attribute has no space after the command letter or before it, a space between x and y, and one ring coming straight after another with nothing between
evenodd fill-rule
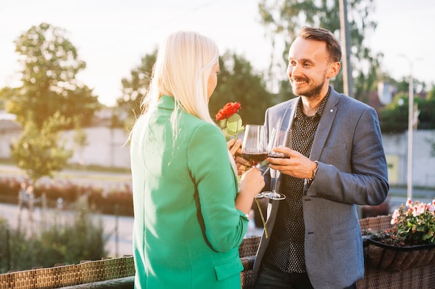
<instances>
[{"instance_id":1,"label":"smiling bearded man in grey-blue blazer holding a wine glass","mask_svg":"<svg viewBox=\"0 0 435 289\"><path fill-rule=\"evenodd\" d=\"M298 96L270 107L268 132L292 130L289 159L268 158L286 200L274 200L269 238L261 238L254 288L356 288L364 259L356 205L388 193L381 131L372 107L338 94L340 44L323 28L303 27L290 46L288 78ZM289 144L290 145L290 144Z\"/></svg>"}]
</instances>

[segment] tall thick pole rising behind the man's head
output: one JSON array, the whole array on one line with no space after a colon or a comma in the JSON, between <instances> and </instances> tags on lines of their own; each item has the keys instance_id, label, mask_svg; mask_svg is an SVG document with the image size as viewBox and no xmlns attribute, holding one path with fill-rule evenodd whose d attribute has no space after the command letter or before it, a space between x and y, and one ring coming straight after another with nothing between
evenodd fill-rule
<instances>
[{"instance_id":1,"label":"tall thick pole rising behind the man's head","mask_svg":"<svg viewBox=\"0 0 435 289\"><path fill-rule=\"evenodd\" d=\"M343 49L343 89L347 96L354 97L354 85L352 80L352 65L350 64L350 33L347 21L347 0L340 0L340 37Z\"/></svg>"}]
</instances>

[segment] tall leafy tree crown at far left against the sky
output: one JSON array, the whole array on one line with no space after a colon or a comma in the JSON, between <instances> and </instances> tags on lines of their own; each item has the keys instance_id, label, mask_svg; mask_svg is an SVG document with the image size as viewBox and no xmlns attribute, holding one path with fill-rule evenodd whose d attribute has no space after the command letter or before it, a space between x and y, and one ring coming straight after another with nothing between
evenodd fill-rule
<instances>
[{"instance_id":1,"label":"tall leafy tree crown at far left against the sky","mask_svg":"<svg viewBox=\"0 0 435 289\"><path fill-rule=\"evenodd\" d=\"M77 116L89 125L101 105L92 89L76 80L85 62L78 59L65 30L42 23L20 35L15 45L22 64L22 85L1 91L6 110L16 114L23 126L29 112L36 128L42 128L56 112L67 118Z\"/></svg>"}]
</instances>

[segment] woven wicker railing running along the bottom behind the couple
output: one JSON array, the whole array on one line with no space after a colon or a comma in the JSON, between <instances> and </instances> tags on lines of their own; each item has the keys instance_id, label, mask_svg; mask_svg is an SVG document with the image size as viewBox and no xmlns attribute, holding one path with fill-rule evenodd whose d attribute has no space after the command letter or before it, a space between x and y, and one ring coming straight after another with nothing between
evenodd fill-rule
<instances>
[{"instance_id":1,"label":"woven wicker railing running along the bottom behind the couple","mask_svg":"<svg viewBox=\"0 0 435 289\"><path fill-rule=\"evenodd\" d=\"M390 227L390 216L360 220L362 229L386 229ZM241 287L252 289L256 274L252 271L260 237L245 238L240 246L243 263ZM367 247L366 247L367 248ZM365 249L366 249L365 248ZM366 258L367 261L367 258ZM134 263L132 256L82 261L78 265L59 265L0 274L0 289L33 288L131 288L134 287ZM364 278L358 281L358 289L429 289L434 287L435 266L411 268L402 272L387 272L371 268L366 262Z\"/></svg>"}]
</instances>

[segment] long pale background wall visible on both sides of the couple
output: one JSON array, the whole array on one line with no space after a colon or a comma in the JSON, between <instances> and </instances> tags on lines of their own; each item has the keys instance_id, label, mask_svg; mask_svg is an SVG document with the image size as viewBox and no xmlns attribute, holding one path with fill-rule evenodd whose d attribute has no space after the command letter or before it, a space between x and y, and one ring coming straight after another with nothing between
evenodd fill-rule
<instances>
[{"instance_id":1,"label":"long pale background wall visible on both sides of the couple","mask_svg":"<svg viewBox=\"0 0 435 289\"><path fill-rule=\"evenodd\" d=\"M83 151L74 149L70 164L130 168L129 145L124 143L128 134L122 129L107 127L86 128L88 146ZM19 137L19 131L0 130L0 158L10 158L10 143ZM67 146L74 148L75 130L65 132ZM388 178L391 185L407 184L407 132L384 134L384 149L388 161ZM435 130L413 132L413 186L435 188L435 157L431 146L435 142Z\"/></svg>"}]
</instances>

